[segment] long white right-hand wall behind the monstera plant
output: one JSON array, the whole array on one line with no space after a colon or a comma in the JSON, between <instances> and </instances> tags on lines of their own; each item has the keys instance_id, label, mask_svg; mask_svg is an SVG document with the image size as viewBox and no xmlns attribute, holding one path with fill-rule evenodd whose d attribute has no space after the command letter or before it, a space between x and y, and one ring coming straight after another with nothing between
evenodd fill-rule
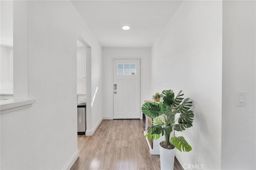
<instances>
[{"instance_id":1,"label":"long white right-hand wall behind the monstera plant","mask_svg":"<svg viewBox=\"0 0 256 170\"><path fill-rule=\"evenodd\" d=\"M175 132L192 146L176 150L181 165L220 169L222 1L182 2L152 47L151 83L152 93L183 90L193 101L193 127Z\"/></svg>"}]
</instances>

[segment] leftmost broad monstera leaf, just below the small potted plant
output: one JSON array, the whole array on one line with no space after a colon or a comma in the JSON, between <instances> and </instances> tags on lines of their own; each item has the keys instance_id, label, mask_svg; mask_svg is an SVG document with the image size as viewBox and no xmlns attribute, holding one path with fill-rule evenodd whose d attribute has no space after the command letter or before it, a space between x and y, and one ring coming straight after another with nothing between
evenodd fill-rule
<instances>
[{"instance_id":1,"label":"leftmost broad monstera leaf, just below the small potted plant","mask_svg":"<svg viewBox=\"0 0 256 170\"><path fill-rule=\"evenodd\" d=\"M162 115L161 107L156 102L147 102L142 105L141 111L148 117L154 119Z\"/></svg>"}]
</instances>

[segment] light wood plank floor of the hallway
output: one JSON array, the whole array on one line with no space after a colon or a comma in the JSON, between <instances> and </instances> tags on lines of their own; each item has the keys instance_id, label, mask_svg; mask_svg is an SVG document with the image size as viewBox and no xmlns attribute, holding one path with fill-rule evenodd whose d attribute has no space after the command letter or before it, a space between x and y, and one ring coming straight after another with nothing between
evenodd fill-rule
<instances>
[{"instance_id":1,"label":"light wood plank floor of the hallway","mask_svg":"<svg viewBox=\"0 0 256 170\"><path fill-rule=\"evenodd\" d=\"M78 135L79 158L71 170L159 170L151 155L142 120L103 120L93 136ZM175 170L183 170L177 160Z\"/></svg>"}]
</instances>

